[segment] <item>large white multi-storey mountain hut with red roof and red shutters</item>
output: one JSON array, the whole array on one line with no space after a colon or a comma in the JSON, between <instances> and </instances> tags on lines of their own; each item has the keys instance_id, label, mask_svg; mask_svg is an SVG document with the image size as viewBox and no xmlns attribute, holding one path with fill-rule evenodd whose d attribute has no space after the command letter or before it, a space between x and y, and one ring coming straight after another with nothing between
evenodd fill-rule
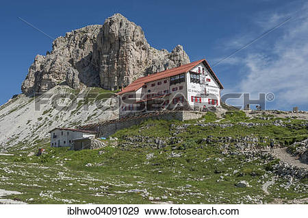
<instances>
[{"instance_id":1,"label":"large white multi-storey mountain hut with red roof and red shutters","mask_svg":"<svg viewBox=\"0 0 308 218\"><path fill-rule=\"evenodd\" d=\"M133 112L149 112L181 107L203 110L220 106L223 86L208 62L190 64L140 77L119 93L120 117Z\"/></svg>"}]
</instances>

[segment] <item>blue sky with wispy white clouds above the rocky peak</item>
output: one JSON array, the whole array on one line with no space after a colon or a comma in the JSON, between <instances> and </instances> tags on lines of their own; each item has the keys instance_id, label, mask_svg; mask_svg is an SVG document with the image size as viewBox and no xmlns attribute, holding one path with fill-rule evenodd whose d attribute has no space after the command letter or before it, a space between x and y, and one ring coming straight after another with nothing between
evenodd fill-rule
<instances>
[{"instance_id":1,"label":"blue sky with wispy white clouds above the rocky peak","mask_svg":"<svg viewBox=\"0 0 308 218\"><path fill-rule=\"evenodd\" d=\"M5 1L1 18L0 104L21 93L36 54L53 38L121 13L140 25L149 44L171 51L183 45L190 60L214 65L262 33L291 18L253 45L213 67L224 93L274 93L267 108L308 110L307 1ZM228 101L238 104L237 101Z\"/></svg>"}]
</instances>

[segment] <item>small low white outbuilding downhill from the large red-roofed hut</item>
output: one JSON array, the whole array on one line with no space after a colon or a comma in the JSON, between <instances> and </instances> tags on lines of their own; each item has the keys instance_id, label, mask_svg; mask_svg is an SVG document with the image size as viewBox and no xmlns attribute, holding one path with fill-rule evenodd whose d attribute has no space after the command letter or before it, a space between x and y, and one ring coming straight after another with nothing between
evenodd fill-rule
<instances>
[{"instance_id":1,"label":"small low white outbuilding downhill from the large red-roofed hut","mask_svg":"<svg viewBox=\"0 0 308 218\"><path fill-rule=\"evenodd\" d=\"M58 128L51 130L51 147L70 147L77 138L95 138L96 133Z\"/></svg>"}]
</instances>

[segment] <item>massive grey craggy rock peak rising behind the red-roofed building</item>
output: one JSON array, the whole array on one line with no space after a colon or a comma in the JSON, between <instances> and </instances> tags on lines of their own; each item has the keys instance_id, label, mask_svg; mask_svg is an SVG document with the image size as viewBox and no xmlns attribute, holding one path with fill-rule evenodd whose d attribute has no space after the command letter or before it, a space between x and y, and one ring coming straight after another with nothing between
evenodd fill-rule
<instances>
[{"instance_id":1,"label":"massive grey craggy rock peak rising behind the red-roofed building","mask_svg":"<svg viewBox=\"0 0 308 218\"><path fill-rule=\"evenodd\" d=\"M115 90L138 77L188 62L181 45L171 52L154 49L140 26L114 14L103 25L56 38L50 53L36 56L21 89L26 95L44 93L57 84Z\"/></svg>"}]
</instances>

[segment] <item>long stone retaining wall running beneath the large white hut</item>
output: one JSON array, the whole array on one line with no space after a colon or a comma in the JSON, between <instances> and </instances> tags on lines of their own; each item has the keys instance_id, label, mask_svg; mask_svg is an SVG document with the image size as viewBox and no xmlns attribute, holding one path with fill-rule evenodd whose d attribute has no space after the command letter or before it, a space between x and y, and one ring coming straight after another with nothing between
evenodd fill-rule
<instances>
[{"instance_id":1,"label":"long stone retaining wall running beneath the large white hut","mask_svg":"<svg viewBox=\"0 0 308 218\"><path fill-rule=\"evenodd\" d=\"M130 128L133 125L138 125L142 121L147 119L164 119L164 120L179 120L186 121L190 119L199 119L205 112L194 111L166 111L166 112L153 112L149 114L143 114L138 117L127 117L123 119L116 119L111 121L105 121L103 123L92 123L89 125L83 125L77 127L79 130L90 130L97 132L97 136L108 137L118 130Z\"/></svg>"}]
</instances>

